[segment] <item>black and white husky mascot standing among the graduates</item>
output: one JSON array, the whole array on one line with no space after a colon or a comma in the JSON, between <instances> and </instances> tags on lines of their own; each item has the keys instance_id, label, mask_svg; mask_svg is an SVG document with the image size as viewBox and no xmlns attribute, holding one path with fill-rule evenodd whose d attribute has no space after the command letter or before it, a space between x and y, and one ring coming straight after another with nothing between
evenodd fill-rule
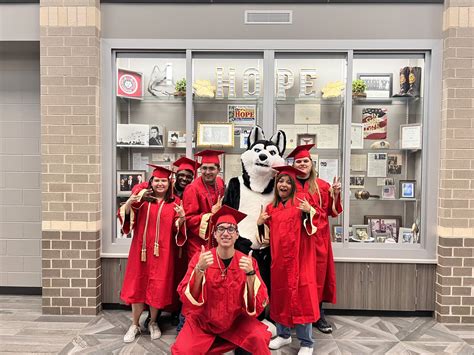
<instances>
[{"instance_id":1,"label":"black and white husky mascot standing among the graduates","mask_svg":"<svg viewBox=\"0 0 474 355\"><path fill-rule=\"evenodd\" d=\"M235 248L245 254L253 249L253 257L258 262L260 274L270 292L270 248L257 239L257 219L262 208L272 202L275 185L275 170L272 166L285 165L283 153L286 135L277 131L266 139L259 126L252 128L248 138L247 150L242 153L242 175L230 179L224 196L224 204L245 214L239 223L239 238Z\"/></svg>"}]
</instances>

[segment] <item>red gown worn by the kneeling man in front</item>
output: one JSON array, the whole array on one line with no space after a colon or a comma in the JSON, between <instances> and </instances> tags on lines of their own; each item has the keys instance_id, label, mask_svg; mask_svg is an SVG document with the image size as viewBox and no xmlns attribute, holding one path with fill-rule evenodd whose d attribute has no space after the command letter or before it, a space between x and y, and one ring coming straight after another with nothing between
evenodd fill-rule
<instances>
[{"instance_id":1,"label":"red gown worn by the kneeling man in front","mask_svg":"<svg viewBox=\"0 0 474 355\"><path fill-rule=\"evenodd\" d=\"M238 346L253 354L270 354L268 343L271 334L267 327L255 318L268 303L267 288L258 271L256 260L253 259L257 275L254 283L254 311L249 312L247 276L239 268L239 260L245 254L235 251L226 277L222 278L216 249L211 251L214 263L203 276L199 297L194 299L190 291L199 254L189 263L186 276L178 287L188 313L186 323L171 347L171 352L193 355L222 353ZM224 268L222 261L219 262L221 268ZM217 336L225 341L215 342Z\"/></svg>"}]
</instances>

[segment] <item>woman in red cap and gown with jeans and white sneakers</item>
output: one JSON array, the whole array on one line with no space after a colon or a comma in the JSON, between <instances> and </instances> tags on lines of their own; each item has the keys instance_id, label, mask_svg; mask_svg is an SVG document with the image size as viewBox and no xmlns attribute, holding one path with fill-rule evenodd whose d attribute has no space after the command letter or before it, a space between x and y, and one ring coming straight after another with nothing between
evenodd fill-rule
<instances>
[{"instance_id":1,"label":"woman in red cap and gown with jeans and white sneakers","mask_svg":"<svg viewBox=\"0 0 474 355\"><path fill-rule=\"evenodd\" d=\"M276 321L278 336L269 346L279 349L290 344L290 328L295 327L301 344L298 354L312 354L312 323L319 319L315 269L319 211L311 197L297 195L296 175L301 171L291 166L274 169L279 172L275 196L257 221L269 228L272 256L270 317Z\"/></svg>"}]
</instances>

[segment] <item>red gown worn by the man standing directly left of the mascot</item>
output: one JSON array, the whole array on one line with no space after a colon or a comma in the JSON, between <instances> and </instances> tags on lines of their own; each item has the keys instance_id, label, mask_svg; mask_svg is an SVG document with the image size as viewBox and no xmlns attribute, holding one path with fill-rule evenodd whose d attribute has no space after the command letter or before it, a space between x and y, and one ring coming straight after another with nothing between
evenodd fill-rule
<instances>
[{"instance_id":1,"label":"red gown worn by the man standing directly left of the mascot","mask_svg":"<svg viewBox=\"0 0 474 355\"><path fill-rule=\"evenodd\" d=\"M207 248L207 224L211 217L211 208L218 198L224 196L225 184L220 177L216 184L205 185L202 177L186 186L183 194L183 207L186 212L188 243L186 245L188 260L201 251L201 245Z\"/></svg>"}]
</instances>

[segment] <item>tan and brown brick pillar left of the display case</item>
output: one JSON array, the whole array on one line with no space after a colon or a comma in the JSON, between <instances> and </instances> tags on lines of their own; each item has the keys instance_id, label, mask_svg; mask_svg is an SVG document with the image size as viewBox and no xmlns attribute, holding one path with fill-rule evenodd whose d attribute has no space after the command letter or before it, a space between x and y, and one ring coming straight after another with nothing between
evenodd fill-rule
<instances>
[{"instance_id":1,"label":"tan and brown brick pillar left of the display case","mask_svg":"<svg viewBox=\"0 0 474 355\"><path fill-rule=\"evenodd\" d=\"M40 1L43 313L101 307L100 3Z\"/></svg>"}]
</instances>

